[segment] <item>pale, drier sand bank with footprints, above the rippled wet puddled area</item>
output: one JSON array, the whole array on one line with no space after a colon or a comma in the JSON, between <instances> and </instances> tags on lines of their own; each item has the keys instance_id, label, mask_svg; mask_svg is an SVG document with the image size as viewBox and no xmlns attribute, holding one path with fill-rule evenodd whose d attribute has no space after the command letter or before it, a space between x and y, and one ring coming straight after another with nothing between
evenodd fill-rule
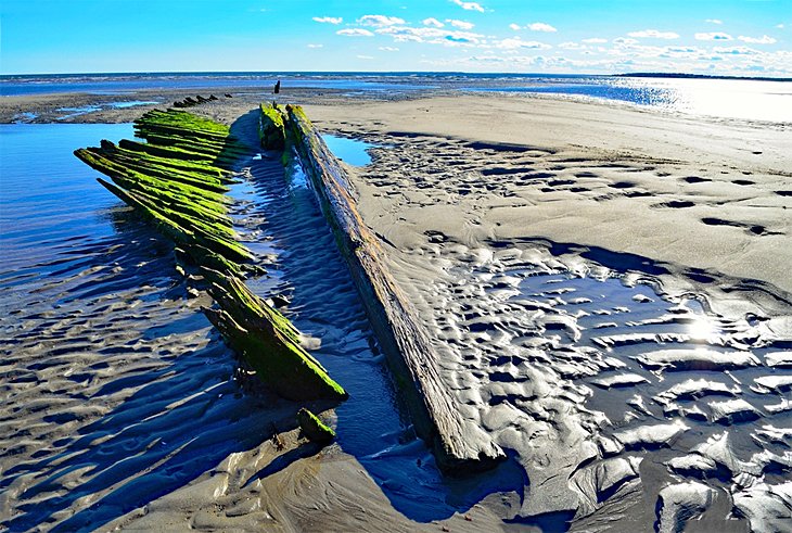
<instances>
[{"instance_id":1,"label":"pale, drier sand bank with footprints, above the rippled wet puddled area","mask_svg":"<svg viewBox=\"0 0 792 533\"><path fill-rule=\"evenodd\" d=\"M410 191L413 173L433 166L416 191L423 198L372 199L366 191L361 200L367 220L397 248L414 245L414 236L426 230L462 241L548 239L635 254L675 272L697 269L792 291L789 125L538 98L307 111L319 126L368 132L372 140L371 132L380 132L422 149L385 169L395 189ZM454 167L446 166L451 158ZM435 205L418 208L421 203ZM395 212L407 224L383 215ZM476 228L467 237L461 230L472 220Z\"/></svg>"}]
</instances>

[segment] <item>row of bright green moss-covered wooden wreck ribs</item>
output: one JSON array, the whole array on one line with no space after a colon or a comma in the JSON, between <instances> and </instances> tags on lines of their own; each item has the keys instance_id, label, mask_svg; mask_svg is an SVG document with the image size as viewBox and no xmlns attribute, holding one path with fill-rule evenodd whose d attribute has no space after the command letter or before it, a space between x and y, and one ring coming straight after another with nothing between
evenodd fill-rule
<instances>
[{"instance_id":1,"label":"row of bright green moss-covered wooden wreck ribs","mask_svg":"<svg viewBox=\"0 0 792 533\"><path fill-rule=\"evenodd\" d=\"M217 307L205 313L231 347L278 394L290 399L343 399L346 392L299 344L292 323L238 277L253 259L232 229L226 195L230 166L250 153L227 126L190 113L151 111L135 128L148 143L102 141L75 151L110 177L99 182L136 208L203 277Z\"/></svg>"}]
</instances>

